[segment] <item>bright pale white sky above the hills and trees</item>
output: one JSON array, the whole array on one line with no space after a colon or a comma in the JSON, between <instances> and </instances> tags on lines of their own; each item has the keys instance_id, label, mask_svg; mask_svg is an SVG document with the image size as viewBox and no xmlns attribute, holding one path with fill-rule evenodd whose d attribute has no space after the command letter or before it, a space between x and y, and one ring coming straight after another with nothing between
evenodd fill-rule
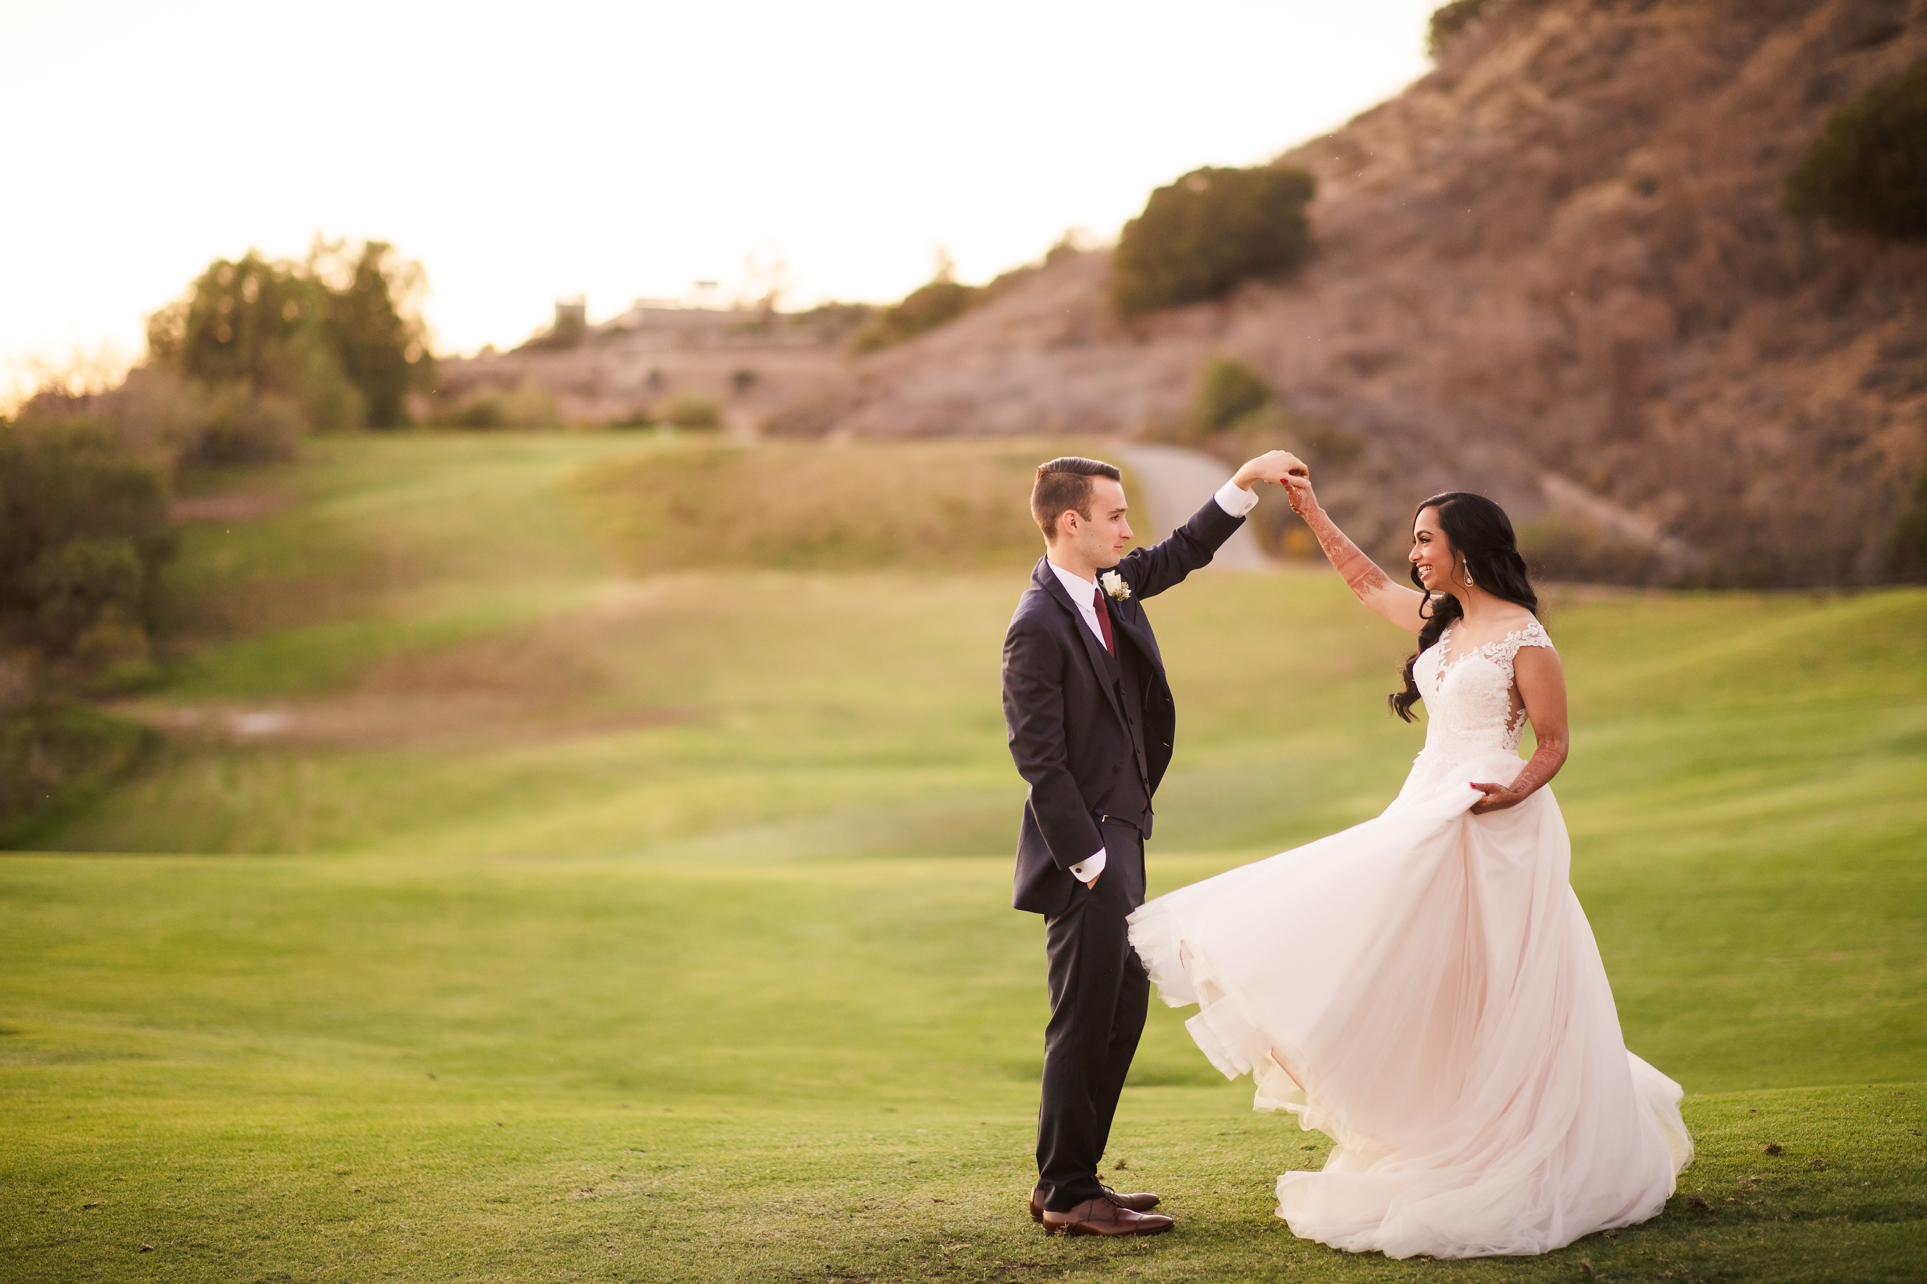
<instances>
[{"instance_id":1,"label":"bright pale white sky above the hills and trees","mask_svg":"<svg viewBox=\"0 0 1927 1284\"><path fill-rule=\"evenodd\" d=\"M441 352L752 252L786 304L985 281L1397 92L1436 4L0 0L0 381L316 231L420 260Z\"/></svg>"}]
</instances>

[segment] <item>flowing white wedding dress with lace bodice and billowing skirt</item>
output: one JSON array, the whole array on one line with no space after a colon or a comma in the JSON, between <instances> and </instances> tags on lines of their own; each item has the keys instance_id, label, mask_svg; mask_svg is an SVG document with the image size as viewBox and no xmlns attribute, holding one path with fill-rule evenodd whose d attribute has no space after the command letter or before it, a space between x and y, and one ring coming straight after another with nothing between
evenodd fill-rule
<instances>
[{"instance_id":1,"label":"flowing white wedding dress with lace bodice and billowing skirt","mask_svg":"<svg viewBox=\"0 0 1927 1284\"><path fill-rule=\"evenodd\" d=\"M1384 814L1147 903L1131 945L1254 1109L1335 1142L1278 1178L1295 1234L1544 1253L1659 1213L1692 1140L1680 1086L1626 1051L1551 789L1468 812L1466 782L1524 766L1513 656L1551 639L1449 647L1414 666L1426 747Z\"/></svg>"}]
</instances>

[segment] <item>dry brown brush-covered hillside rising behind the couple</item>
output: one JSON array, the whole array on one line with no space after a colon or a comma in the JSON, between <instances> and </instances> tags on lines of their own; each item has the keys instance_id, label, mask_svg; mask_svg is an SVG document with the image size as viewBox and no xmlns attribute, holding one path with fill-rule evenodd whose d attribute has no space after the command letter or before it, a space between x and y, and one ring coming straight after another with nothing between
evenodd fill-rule
<instances>
[{"instance_id":1,"label":"dry brown brush-covered hillside rising behind the couple","mask_svg":"<svg viewBox=\"0 0 1927 1284\"><path fill-rule=\"evenodd\" d=\"M1927 246L1781 196L1923 54L1927 0L1488 0L1280 158L1320 185L1293 279L1127 327L1106 256L1064 256L858 362L836 431L1145 433L1227 352L1364 443L1322 477L1380 549L1465 485L1603 578L1879 581L1927 464Z\"/></svg>"}]
</instances>

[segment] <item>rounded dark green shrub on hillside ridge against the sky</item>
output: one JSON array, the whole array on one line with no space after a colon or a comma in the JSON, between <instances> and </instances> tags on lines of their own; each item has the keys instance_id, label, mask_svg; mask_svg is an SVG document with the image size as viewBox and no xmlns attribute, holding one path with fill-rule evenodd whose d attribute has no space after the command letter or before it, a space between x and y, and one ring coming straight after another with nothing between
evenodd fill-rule
<instances>
[{"instance_id":1,"label":"rounded dark green shrub on hillside ridge against the sky","mask_svg":"<svg viewBox=\"0 0 1927 1284\"><path fill-rule=\"evenodd\" d=\"M1150 193L1112 256L1120 316L1218 298L1243 281L1297 268L1312 248L1303 169L1193 169Z\"/></svg>"}]
</instances>

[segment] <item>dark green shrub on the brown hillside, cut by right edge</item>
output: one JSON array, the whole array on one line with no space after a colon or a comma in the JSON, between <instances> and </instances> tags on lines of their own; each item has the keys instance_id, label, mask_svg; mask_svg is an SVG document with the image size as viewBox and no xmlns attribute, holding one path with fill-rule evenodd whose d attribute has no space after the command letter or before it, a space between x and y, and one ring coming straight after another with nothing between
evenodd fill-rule
<instances>
[{"instance_id":1,"label":"dark green shrub on the brown hillside, cut by right edge","mask_svg":"<svg viewBox=\"0 0 1927 1284\"><path fill-rule=\"evenodd\" d=\"M1833 114L1786 175L1786 210L1840 231L1927 239L1927 58Z\"/></svg>"}]
</instances>

